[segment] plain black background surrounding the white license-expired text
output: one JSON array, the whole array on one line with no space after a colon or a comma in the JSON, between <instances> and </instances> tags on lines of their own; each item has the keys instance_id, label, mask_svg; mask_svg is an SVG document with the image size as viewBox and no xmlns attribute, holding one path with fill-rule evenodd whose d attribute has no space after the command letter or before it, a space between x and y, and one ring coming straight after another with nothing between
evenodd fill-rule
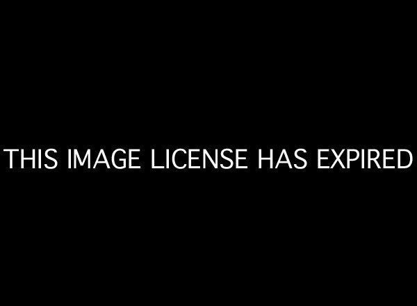
<instances>
[{"instance_id":1,"label":"plain black background surrounding the white license-expired text","mask_svg":"<svg viewBox=\"0 0 417 306\"><path fill-rule=\"evenodd\" d=\"M3 167L8 287L117 300L407 291L415 166L320 171L315 152L415 154L411 19L172 9L20 8L2 38L1 148L247 147L251 169ZM304 171L252 161L297 147L311 154Z\"/></svg>"}]
</instances>

